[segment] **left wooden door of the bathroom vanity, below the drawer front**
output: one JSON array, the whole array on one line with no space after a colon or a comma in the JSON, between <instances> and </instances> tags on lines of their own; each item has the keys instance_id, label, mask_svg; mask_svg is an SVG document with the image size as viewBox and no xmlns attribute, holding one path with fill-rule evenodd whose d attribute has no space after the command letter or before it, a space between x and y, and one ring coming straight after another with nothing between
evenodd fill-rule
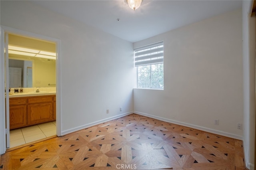
<instances>
[{"instance_id":1,"label":"left wooden door of the bathroom vanity, below the drawer front","mask_svg":"<svg viewBox=\"0 0 256 170\"><path fill-rule=\"evenodd\" d=\"M27 106L10 106L10 129L24 127L27 125Z\"/></svg>"}]
</instances>

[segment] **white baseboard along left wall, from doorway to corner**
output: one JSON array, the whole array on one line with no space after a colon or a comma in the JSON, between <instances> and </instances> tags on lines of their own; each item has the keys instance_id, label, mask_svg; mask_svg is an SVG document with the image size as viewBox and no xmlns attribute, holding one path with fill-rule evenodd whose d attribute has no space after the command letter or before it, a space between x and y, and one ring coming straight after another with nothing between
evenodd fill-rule
<instances>
[{"instance_id":1,"label":"white baseboard along left wall, from doorway to corner","mask_svg":"<svg viewBox=\"0 0 256 170\"><path fill-rule=\"evenodd\" d=\"M124 117L124 116L130 115L132 113L133 112L127 112L127 113L123 113L121 115L116 115L116 116L109 117L109 118L106 118L106 119L102 119L102 120L99 120L99 121L96 121L96 122L88 123L86 125L82 125L82 126L79 126L79 127L76 127L76 128L70 128L68 130L62 131L62 135L69 134L69 133L72 133L72 132L76 132L76 131L82 130L84 128L92 127L92 126L98 125L100 123L105 123L105 122L108 122L108 121L112 121L114 119L118 119L120 117Z\"/></svg>"}]
</instances>

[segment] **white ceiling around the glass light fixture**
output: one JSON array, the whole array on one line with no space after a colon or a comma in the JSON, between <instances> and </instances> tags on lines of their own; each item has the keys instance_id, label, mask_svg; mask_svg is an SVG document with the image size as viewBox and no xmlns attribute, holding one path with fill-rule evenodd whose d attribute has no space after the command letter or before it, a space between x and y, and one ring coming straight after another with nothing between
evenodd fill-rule
<instances>
[{"instance_id":1,"label":"white ceiling around the glass light fixture","mask_svg":"<svg viewBox=\"0 0 256 170\"><path fill-rule=\"evenodd\" d=\"M135 11L125 0L30 2L129 42L144 40L242 7L242 0L144 0Z\"/></svg>"}]
</instances>

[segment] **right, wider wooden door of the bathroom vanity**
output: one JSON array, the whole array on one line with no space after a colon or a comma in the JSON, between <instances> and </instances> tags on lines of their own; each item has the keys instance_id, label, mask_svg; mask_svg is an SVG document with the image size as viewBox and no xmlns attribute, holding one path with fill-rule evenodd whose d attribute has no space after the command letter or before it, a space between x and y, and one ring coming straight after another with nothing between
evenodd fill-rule
<instances>
[{"instance_id":1,"label":"right, wider wooden door of the bathroom vanity","mask_svg":"<svg viewBox=\"0 0 256 170\"><path fill-rule=\"evenodd\" d=\"M28 104L28 125L52 121L53 103Z\"/></svg>"}]
</instances>

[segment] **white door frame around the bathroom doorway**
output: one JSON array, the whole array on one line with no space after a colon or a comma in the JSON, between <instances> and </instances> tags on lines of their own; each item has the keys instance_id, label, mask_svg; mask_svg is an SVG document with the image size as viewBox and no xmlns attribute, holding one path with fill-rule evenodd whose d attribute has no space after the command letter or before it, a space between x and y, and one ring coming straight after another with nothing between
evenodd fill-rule
<instances>
[{"instance_id":1,"label":"white door frame around the bathroom doorway","mask_svg":"<svg viewBox=\"0 0 256 170\"><path fill-rule=\"evenodd\" d=\"M6 151L6 117L5 117L5 94L4 94L4 34L18 34L22 36L28 36L33 38L38 38L42 40L47 40L56 43L56 134L61 136L62 127L61 127L61 48L60 40L56 38L51 38L48 36L43 36L40 34L34 34L31 32L26 32L23 30L18 30L16 28L10 28L7 26L1 26L1 42L0 42L0 154L3 154ZM8 97L8 96L7 96ZM9 99L9 97L8 97ZM7 128L9 129L9 127Z\"/></svg>"}]
</instances>

